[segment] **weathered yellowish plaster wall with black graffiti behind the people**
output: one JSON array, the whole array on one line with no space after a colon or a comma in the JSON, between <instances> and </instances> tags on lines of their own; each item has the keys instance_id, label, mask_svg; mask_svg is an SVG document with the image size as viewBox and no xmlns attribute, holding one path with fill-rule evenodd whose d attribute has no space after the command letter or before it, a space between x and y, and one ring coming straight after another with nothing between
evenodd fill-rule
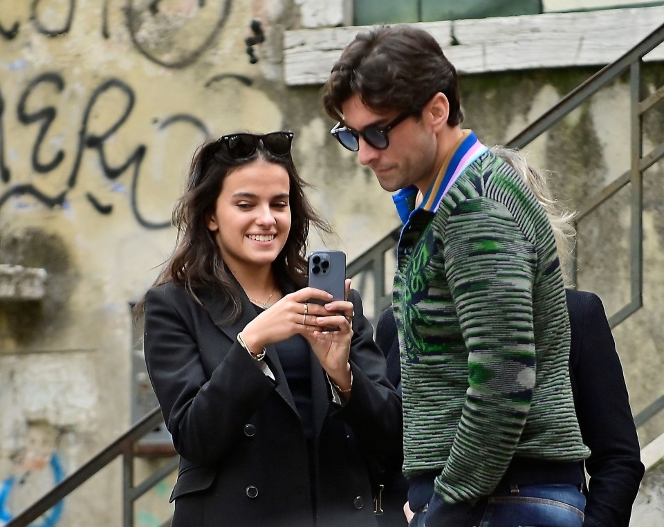
<instances>
[{"instance_id":1,"label":"weathered yellowish plaster wall with black graffiti behind the people","mask_svg":"<svg viewBox=\"0 0 664 527\"><path fill-rule=\"evenodd\" d=\"M0 264L47 273L42 300L0 299L0 520L131 425L129 305L172 249L172 205L206 136L295 131L310 196L339 234L327 243L350 259L397 225L374 175L329 136L320 86L282 80L284 31L303 11L338 16L311 1L0 0ZM251 64L255 18L266 41ZM664 83L661 64L646 70L648 86ZM504 142L594 71L465 75L466 124ZM615 82L529 148L571 207L629 167L628 100ZM662 122L659 109L648 145ZM661 394L663 172L645 178L645 306L616 331L636 411ZM628 203L620 193L581 225L579 284L609 312L627 295ZM116 462L49 525L120 525L120 481ZM138 504L138 526L158 525L167 493Z\"/></svg>"}]
</instances>

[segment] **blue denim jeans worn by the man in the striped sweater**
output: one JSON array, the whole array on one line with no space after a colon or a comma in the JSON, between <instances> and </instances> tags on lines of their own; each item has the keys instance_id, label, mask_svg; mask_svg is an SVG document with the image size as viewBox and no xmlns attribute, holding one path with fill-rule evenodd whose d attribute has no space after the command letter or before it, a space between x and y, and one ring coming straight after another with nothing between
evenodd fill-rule
<instances>
[{"instance_id":1,"label":"blue denim jeans worn by the man in the striped sweater","mask_svg":"<svg viewBox=\"0 0 664 527\"><path fill-rule=\"evenodd\" d=\"M585 506L585 496L574 485L514 486L481 500L474 520L455 527L581 527ZM426 516L417 512L409 527L431 527Z\"/></svg>"}]
</instances>

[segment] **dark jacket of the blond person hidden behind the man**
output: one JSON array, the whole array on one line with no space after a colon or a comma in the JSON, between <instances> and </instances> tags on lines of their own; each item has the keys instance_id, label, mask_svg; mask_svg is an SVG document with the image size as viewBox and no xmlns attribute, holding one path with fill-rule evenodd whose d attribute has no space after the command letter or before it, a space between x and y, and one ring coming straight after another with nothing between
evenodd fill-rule
<instances>
[{"instance_id":1,"label":"dark jacket of the blond person hidden behind the man","mask_svg":"<svg viewBox=\"0 0 664 527\"><path fill-rule=\"evenodd\" d=\"M571 326L569 354L574 406L584 443L589 481L584 526L627 527L644 467L623 367L616 353L607 315L598 295L566 290ZM400 387L396 323L387 309L376 325L376 342L387 356L387 377ZM400 508L407 499L403 474L387 475L385 526L405 526ZM388 517L389 516L389 517Z\"/></svg>"}]
</instances>

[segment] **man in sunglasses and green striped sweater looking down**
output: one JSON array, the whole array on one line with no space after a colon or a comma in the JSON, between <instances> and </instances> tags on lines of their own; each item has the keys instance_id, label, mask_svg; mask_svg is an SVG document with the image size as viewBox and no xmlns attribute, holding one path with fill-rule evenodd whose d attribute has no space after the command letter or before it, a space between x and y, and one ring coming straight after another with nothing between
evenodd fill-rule
<instances>
[{"instance_id":1,"label":"man in sunglasses and green striped sweater looking down","mask_svg":"<svg viewBox=\"0 0 664 527\"><path fill-rule=\"evenodd\" d=\"M423 30L360 33L332 68L333 136L404 223L393 308L412 526L580 526L569 317L537 198L463 120L457 72Z\"/></svg>"}]
</instances>

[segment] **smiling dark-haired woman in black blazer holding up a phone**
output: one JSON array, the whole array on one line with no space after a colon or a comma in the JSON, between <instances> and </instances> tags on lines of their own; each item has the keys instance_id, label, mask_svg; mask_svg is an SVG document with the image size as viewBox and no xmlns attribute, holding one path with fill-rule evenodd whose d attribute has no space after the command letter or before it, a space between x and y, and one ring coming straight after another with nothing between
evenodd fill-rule
<instances>
[{"instance_id":1,"label":"smiling dark-haired woman in black blazer holding up a phone","mask_svg":"<svg viewBox=\"0 0 664 527\"><path fill-rule=\"evenodd\" d=\"M400 399L360 297L349 280L336 302L304 287L309 225L329 228L292 139L199 149L176 249L145 296L147 369L181 455L173 526L374 526L367 466L400 449Z\"/></svg>"}]
</instances>

